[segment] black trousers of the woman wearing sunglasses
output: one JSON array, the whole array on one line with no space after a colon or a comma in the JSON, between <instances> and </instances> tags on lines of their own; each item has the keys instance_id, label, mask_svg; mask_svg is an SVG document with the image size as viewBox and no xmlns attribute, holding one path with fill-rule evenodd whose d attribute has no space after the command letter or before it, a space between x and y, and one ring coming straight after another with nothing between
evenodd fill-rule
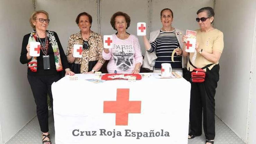
<instances>
[{"instance_id":1,"label":"black trousers of the woman wearing sunglasses","mask_svg":"<svg viewBox=\"0 0 256 144\"><path fill-rule=\"evenodd\" d=\"M220 66L215 65L211 70L207 68L206 77L203 83L191 82L191 72L184 77L191 83L190 92L190 134L200 136L202 134L202 113L203 127L207 140L215 138L215 93L219 81Z\"/></svg>"}]
</instances>

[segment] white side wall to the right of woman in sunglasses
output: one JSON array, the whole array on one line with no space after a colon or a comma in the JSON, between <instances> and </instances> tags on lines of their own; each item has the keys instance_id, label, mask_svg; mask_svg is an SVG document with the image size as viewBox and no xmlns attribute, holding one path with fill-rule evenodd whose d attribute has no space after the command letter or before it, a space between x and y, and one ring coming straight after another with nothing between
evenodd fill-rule
<instances>
[{"instance_id":1,"label":"white side wall to the right of woman in sunglasses","mask_svg":"<svg viewBox=\"0 0 256 144\"><path fill-rule=\"evenodd\" d=\"M245 142L248 132L255 7L255 0L216 0L215 6L215 26L224 33L216 115ZM255 104L254 101L252 105Z\"/></svg>"}]
</instances>

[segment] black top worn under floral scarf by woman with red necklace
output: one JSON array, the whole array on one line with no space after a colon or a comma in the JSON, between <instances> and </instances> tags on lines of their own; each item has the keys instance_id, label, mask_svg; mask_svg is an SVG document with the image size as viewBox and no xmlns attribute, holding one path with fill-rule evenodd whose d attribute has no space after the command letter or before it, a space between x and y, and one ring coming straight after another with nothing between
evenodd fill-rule
<instances>
[{"instance_id":1,"label":"black top worn under floral scarf by woman with red necklace","mask_svg":"<svg viewBox=\"0 0 256 144\"><path fill-rule=\"evenodd\" d=\"M27 64L29 63L30 60L27 60L27 45L28 45L28 41L29 41L29 36L31 33L24 35L23 41L22 41L22 49L21 49L21 54L20 54L20 58L19 61L22 64ZM61 42L58 38L57 33L54 32L54 37L57 41L58 44L58 48L60 51L60 56L61 56L61 64L63 67L63 70L65 70L66 68L69 68L68 62L67 62L67 57L63 51L63 48L61 46ZM42 42L45 41L45 38L40 38ZM37 40L40 42L40 40ZM49 39L48 39L49 41ZM33 76L43 76L43 75L53 75L53 74L59 74L59 72L56 71L56 65L55 65L55 61L54 61L54 52L51 46L51 43L49 41L49 48L48 48L48 52L47 55L50 56L50 70L44 70L44 66L43 66L43 55L45 55L42 52L42 49L40 49L40 56L37 57L37 72L32 72L30 70L30 68L28 67L28 75L33 75Z\"/></svg>"}]
</instances>

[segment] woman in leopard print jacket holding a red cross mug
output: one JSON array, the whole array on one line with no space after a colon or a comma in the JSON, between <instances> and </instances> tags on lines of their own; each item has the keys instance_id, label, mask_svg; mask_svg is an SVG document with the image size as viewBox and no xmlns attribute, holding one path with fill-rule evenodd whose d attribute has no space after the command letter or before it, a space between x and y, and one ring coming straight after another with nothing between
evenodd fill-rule
<instances>
[{"instance_id":1,"label":"woman in leopard print jacket holding a red cross mug","mask_svg":"<svg viewBox=\"0 0 256 144\"><path fill-rule=\"evenodd\" d=\"M80 13L76 23L80 32L70 35L67 45L67 60L76 74L92 74L101 69L105 60L102 58L102 36L90 30L93 19L86 12ZM83 45L82 58L73 57L73 46Z\"/></svg>"}]
</instances>

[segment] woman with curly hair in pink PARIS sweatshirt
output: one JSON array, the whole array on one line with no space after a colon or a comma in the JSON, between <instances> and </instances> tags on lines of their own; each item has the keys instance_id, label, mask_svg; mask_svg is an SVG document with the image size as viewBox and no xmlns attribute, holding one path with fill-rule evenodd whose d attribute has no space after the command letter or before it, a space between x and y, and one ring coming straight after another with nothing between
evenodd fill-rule
<instances>
[{"instance_id":1,"label":"woman with curly hair in pink PARIS sweatshirt","mask_svg":"<svg viewBox=\"0 0 256 144\"><path fill-rule=\"evenodd\" d=\"M113 34L113 46L105 49L102 56L109 60L107 70L109 73L133 73L140 72L143 62L141 47L138 38L126 32L130 26L131 19L129 15L117 12L111 17L111 26L117 33Z\"/></svg>"}]
</instances>

